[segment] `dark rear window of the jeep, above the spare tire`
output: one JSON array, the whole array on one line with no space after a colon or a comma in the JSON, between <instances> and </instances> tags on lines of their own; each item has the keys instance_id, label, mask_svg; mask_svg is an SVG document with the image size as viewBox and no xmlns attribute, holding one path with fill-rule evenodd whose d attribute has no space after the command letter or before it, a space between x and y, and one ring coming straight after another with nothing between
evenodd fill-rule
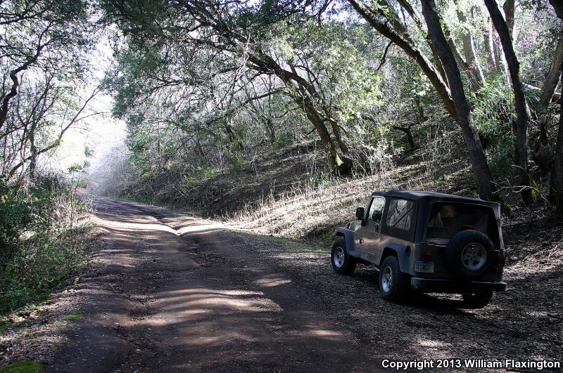
<instances>
[{"instance_id":1,"label":"dark rear window of the jeep, above the spare tire","mask_svg":"<svg viewBox=\"0 0 563 373\"><path fill-rule=\"evenodd\" d=\"M460 230L478 230L498 244L498 227L493 209L464 203L436 202L428 217L426 240L449 240Z\"/></svg>"}]
</instances>

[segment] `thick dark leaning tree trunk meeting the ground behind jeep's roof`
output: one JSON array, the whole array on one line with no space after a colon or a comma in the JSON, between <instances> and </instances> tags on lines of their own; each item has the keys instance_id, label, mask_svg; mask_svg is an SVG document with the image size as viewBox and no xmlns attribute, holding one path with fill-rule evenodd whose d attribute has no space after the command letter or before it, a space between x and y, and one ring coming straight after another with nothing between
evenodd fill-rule
<instances>
[{"instance_id":1,"label":"thick dark leaning tree trunk meeting the ground behind jeep's roof","mask_svg":"<svg viewBox=\"0 0 563 373\"><path fill-rule=\"evenodd\" d=\"M429 37L438 48L445 74L450 82L450 91L457 112L457 119L469 152L469 161L472 164L479 196L483 199L498 199L494 194L496 189L481 142L475 136L473 118L463 89L460 69L457 67L448 41L445 39L434 0L422 0L422 15L424 15L424 20L426 20L428 26Z\"/></svg>"}]
</instances>

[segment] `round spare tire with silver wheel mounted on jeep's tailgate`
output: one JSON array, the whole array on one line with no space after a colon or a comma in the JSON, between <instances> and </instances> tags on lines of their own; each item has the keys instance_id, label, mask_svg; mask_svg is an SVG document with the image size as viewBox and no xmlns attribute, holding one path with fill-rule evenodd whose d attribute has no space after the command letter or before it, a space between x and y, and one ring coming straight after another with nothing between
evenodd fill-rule
<instances>
[{"instance_id":1,"label":"round spare tire with silver wheel mounted on jeep's tailgate","mask_svg":"<svg viewBox=\"0 0 563 373\"><path fill-rule=\"evenodd\" d=\"M484 275L493 263L495 244L478 230L462 230L445 249L445 262L455 275L474 279Z\"/></svg>"}]
</instances>

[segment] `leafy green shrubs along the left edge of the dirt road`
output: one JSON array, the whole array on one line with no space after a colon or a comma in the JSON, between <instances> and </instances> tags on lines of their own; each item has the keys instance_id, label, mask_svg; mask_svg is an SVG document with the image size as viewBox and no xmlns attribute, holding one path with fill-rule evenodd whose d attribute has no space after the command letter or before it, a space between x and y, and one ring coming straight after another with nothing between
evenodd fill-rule
<instances>
[{"instance_id":1,"label":"leafy green shrubs along the left edge of the dirt road","mask_svg":"<svg viewBox=\"0 0 563 373\"><path fill-rule=\"evenodd\" d=\"M83 202L58 175L0 185L0 313L42 299L84 263Z\"/></svg>"}]
</instances>

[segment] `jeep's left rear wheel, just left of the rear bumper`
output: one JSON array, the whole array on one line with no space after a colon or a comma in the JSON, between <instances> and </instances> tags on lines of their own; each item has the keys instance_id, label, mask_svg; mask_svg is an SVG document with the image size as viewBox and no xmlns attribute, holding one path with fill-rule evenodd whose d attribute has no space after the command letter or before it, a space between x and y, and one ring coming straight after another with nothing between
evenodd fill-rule
<instances>
[{"instance_id":1,"label":"jeep's left rear wheel, just left of the rear bumper","mask_svg":"<svg viewBox=\"0 0 563 373\"><path fill-rule=\"evenodd\" d=\"M399 268L396 256L387 256L379 268L379 293L390 302L400 302L410 292L410 275Z\"/></svg>"}]
</instances>

